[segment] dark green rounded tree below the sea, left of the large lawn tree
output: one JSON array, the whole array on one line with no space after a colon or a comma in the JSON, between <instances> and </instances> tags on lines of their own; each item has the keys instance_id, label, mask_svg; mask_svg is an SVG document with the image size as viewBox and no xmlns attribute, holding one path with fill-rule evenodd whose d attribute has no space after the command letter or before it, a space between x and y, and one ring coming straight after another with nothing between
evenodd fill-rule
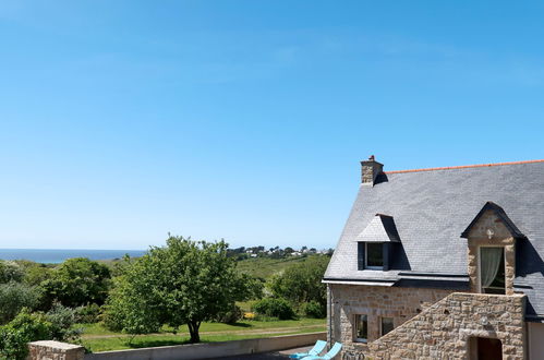
<instances>
[{"instance_id":1,"label":"dark green rounded tree below the sea, left of the large lawn tree","mask_svg":"<svg viewBox=\"0 0 544 360\"><path fill-rule=\"evenodd\" d=\"M41 283L47 300L65 307L87 303L102 304L110 286L108 266L86 257L69 259L55 268L50 278Z\"/></svg>"}]
</instances>

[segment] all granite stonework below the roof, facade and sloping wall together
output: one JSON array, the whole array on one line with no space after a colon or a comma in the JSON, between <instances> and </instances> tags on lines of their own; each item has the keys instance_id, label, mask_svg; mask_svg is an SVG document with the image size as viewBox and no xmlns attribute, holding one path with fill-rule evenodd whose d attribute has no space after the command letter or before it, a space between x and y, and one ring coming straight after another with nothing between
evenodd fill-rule
<instances>
[{"instance_id":1,"label":"all granite stonework below the roof, facade and sloping wall together","mask_svg":"<svg viewBox=\"0 0 544 360\"><path fill-rule=\"evenodd\" d=\"M329 285L329 339L343 353L372 359L468 359L472 337L497 338L504 359L523 359L523 295L482 295L442 289ZM368 316L368 343L354 340L356 314ZM395 329L380 337L379 317ZM473 350L473 349L472 349Z\"/></svg>"}]
</instances>

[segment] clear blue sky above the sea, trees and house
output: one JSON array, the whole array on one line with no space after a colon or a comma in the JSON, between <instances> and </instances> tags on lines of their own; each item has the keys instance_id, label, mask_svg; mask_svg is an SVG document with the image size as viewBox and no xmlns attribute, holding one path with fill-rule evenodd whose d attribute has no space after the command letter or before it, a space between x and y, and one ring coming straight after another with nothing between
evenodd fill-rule
<instances>
[{"instance_id":1,"label":"clear blue sky above the sea, trees and house","mask_svg":"<svg viewBox=\"0 0 544 360\"><path fill-rule=\"evenodd\" d=\"M544 158L542 1L0 2L0 248L334 247L359 160Z\"/></svg>"}]
</instances>

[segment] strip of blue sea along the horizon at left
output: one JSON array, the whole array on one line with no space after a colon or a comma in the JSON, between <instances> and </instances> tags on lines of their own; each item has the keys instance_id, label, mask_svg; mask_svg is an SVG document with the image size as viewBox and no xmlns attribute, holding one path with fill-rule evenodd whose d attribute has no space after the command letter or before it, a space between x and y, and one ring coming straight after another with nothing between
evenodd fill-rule
<instances>
[{"instance_id":1,"label":"strip of blue sea along the horizon at left","mask_svg":"<svg viewBox=\"0 0 544 360\"><path fill-rule=\"evenodd\" d=\"M31 260L44 264L59 264L72 257L113 260L121 259L125 254L131 257L138 257L145 252L145 250L0 249L0 259Z\"/></svg>"}]
</instances>

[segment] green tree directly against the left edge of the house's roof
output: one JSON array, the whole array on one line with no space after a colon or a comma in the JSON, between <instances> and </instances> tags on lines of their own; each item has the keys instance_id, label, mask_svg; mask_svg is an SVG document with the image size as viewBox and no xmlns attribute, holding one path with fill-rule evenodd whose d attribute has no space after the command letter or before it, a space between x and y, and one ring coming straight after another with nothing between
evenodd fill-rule
<instances>
[{"instance_id":1,"label":"green tree directly against the left edge of the house's roof","mask_svg":"<svg viewBox=\"0 0 544 360\"><path fill-rule=\"evenodd\" d=\"M289 266L280 275L273 277L269 287L273 295L295 304L316 301L327 304L327 287L322 284L329 262L328 256L309 256L304 262Z\"/></svg>"}]
</instances>

